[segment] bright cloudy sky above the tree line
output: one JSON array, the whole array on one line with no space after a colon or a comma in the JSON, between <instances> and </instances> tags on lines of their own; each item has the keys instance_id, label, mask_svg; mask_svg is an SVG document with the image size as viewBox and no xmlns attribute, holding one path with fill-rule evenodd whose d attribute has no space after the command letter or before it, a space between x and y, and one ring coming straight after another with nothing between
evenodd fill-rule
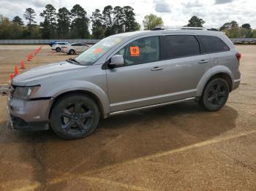
<instances>
[{"instance_id":1,"label":"bright cloudy sky above the tree line","mask_svg":"<svg viewBox=\"0 0 256 191\"><path fill-rule=\"evenodd\" d=\"M72 9L80 4L90 17L95 9L102 9L107 5L126 6L135 9L136 20L143 28L143 17L153 13L162 17L165 26L184 26L193 15L203 18L206 27L219 28L224 23L236 20L241 26L244 23L256 28L256 1L255 0L0 0L0 15L11 20L16 15L23 17L26 8L31 7L37 13L36 21L39 24L46 4L53 4L56 9L67 7Z\"/></svg>"}]
</instances>

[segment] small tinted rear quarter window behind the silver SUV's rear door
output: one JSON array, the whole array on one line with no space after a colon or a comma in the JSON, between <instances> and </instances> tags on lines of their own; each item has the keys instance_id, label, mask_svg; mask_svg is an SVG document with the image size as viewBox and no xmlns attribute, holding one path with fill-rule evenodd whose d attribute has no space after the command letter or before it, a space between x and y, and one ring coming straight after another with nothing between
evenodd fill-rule
<instances>
[{"instance_id":1,"label":"small tinted rear quarter window behind the silver SUV's rear door","mask_svg":"<svg viewBox=\"0 0 256 191\"><path fill-rule=\"evenodd\" d=\"M198 38L203 44L205 53L225 52L230 50L227 44L225 44L225 42L223 42L222 39L219 39L217 36L199 35Z\"/></svg>"}]
</instances>

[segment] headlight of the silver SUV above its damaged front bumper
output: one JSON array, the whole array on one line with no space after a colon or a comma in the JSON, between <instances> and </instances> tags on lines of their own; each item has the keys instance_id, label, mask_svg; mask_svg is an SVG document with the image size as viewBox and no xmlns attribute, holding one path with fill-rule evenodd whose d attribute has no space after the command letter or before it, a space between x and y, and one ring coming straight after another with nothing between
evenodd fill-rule
<instances>
[{"instance_id":1,"label":"headlight of the silver SUV above its damaged front bumper","mask_svg":"<svg viewBox=\"0 0 256 191\"><path fill-rule=\"evenodd\" d=\"M27 86L27 87L15 87L15 91L13 93L13 97L20 98L20 99L29 99L32 95L37 93L39 90L40 85L35 86Z\"/></svg>"}]
</instances>

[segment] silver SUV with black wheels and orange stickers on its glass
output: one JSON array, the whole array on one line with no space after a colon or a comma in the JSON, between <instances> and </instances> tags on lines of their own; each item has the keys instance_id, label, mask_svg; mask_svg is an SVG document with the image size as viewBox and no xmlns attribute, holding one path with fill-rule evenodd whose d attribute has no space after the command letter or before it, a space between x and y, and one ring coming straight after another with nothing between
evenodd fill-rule
<instances>
[{"instance_id":1,"label":"silver SUV with black wheels and orange stickers on its glass","mask_svg":"<svg viewBox=\"0 0 256 191\"><path fill-rule=\"evenodd\" d=\"M15 77L10 122L15 129L52 128L61 138L80 139L100 117L138 109L195 99L217 111L240 83L240 58L225 34L205 28L116 34L75 59Z\"/></svg>"}]
</instances>

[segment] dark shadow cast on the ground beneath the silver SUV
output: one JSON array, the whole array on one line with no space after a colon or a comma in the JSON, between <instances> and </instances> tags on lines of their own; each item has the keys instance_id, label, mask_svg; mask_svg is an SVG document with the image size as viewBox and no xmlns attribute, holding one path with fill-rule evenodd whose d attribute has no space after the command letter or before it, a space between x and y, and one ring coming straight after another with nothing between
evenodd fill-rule
<instances>
[{"instance_id":1,"label":"dark shadow cast on the ground beneath the silver SUV","mask_svg":"<svg viewBox=\"0 0 256 191\"><path fill-rule=\"evenodd\" d=\"M237 116L230 106L206 112L189 101L100 120L96 132L85 139L64 141L51 130L6 130L0 141L20 145L19 160L33 164L34 179L44 187L49 177L89 174L108 165L213 139L235 128Z\"/></svg>"}]
</instances>

